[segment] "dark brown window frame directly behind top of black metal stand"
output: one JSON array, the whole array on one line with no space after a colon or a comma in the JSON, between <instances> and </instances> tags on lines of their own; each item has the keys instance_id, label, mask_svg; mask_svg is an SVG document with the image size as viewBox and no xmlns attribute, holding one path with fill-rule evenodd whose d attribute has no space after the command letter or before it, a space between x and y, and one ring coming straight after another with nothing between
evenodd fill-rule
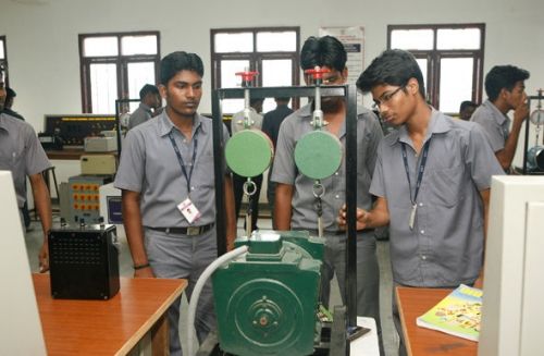
<instances>
[{"instance_id":1,"label":"dark brown window frame directly behind top of black metal stand","mask_svg":"<svg viewBox=\"0 0 544 356\"><path fill-rule=\"evenodd\" d=\"M257 34L262 32L295 32L296 47L295 51L257 51ZM251 33L254 38L252 52L215 52L215 35L217 34L239 34ZM236 27L236 28L211 28L210 29L210 53L211 53L211 85L212 89L221 88L221 61L223 60L247 60L249 61L249 70L262 73L262 61L264 60L290 60L292 61L292 83L294 86L300 85L300 27L299 26L280 26L280 27ZM262 87L262 75L255 77L254 85ZM293 108L299 107L299 99L292 100Z\"/></svg>"}]
</instances>

